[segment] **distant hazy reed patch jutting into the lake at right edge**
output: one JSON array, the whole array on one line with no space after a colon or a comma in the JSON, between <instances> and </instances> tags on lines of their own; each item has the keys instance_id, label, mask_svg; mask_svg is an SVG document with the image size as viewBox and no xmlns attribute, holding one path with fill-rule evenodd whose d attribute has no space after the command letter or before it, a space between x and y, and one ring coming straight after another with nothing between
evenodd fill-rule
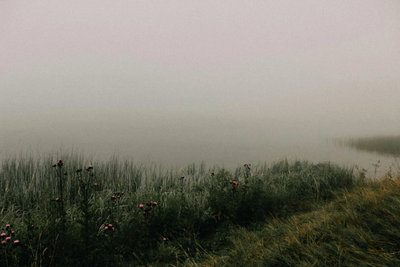
<instances>
[{"instance_id":1,"label":"distant hazy reed patch jutting into the lake at right edge","mask_svg":"<svg viewBox=\"0 0 400 267\"><path fill-rule=\"evenodd\" d=\"M378 152L387 155L400 155L400 136L374 136L374 137L351 137L336 138L334 144L365 150Z\"/></svg>"}]
</instances>

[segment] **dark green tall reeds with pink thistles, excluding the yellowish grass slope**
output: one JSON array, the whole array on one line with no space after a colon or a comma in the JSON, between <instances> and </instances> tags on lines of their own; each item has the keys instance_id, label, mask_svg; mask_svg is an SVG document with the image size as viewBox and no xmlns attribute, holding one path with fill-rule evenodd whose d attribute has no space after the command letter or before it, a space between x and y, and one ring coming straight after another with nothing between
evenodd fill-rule
<instances>
[{"instance_id":1,"label":"dark green tall reeds with pink thistles, excluding the yellowish grass slope","mask_svg":"<svg viewBox=\"0 0 400 267\"><path fill-rule=\"evenodd\" d=\"M0 264L202 264L225 253L237 229L310 212L356 180L352 169L300 161L229 171L79 154L10 158L0 170Z\"/></svg>"}]
</instances>

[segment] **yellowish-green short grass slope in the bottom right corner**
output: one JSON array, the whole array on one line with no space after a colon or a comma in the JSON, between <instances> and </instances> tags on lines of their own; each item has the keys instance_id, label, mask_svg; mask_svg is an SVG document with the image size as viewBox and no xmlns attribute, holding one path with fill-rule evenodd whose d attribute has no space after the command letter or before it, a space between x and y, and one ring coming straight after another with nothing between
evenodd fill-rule
<instances>
[{"instance_id":1,"label":"yellowish-green short grass slope in the bottom right corner","mask_svg":"<svg viewBox=\"0 0 400 267\"><path fill-rule=\"evenodd\" d=\"M344 189L308 212L232 230L191 266L399 266L400 177Z\"/></svg>"}]
</instances>

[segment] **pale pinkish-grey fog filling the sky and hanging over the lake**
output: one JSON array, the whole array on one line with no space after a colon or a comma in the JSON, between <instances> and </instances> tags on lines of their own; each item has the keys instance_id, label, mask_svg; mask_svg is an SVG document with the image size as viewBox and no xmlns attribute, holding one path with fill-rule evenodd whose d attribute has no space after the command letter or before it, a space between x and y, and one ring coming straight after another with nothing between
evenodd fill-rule
<instances>
[{"instance_id":1,"label":"pale pinkish-grey fog filling the sky and hanging over the lake","mask_svg":"<svg viewBox=\"0 0 400 267\"><path fill-rule=\"evenodd\" d=\"M370 164L400 132L398 1L2 1L0 149Z\"/></svg>"}]
</instances>

